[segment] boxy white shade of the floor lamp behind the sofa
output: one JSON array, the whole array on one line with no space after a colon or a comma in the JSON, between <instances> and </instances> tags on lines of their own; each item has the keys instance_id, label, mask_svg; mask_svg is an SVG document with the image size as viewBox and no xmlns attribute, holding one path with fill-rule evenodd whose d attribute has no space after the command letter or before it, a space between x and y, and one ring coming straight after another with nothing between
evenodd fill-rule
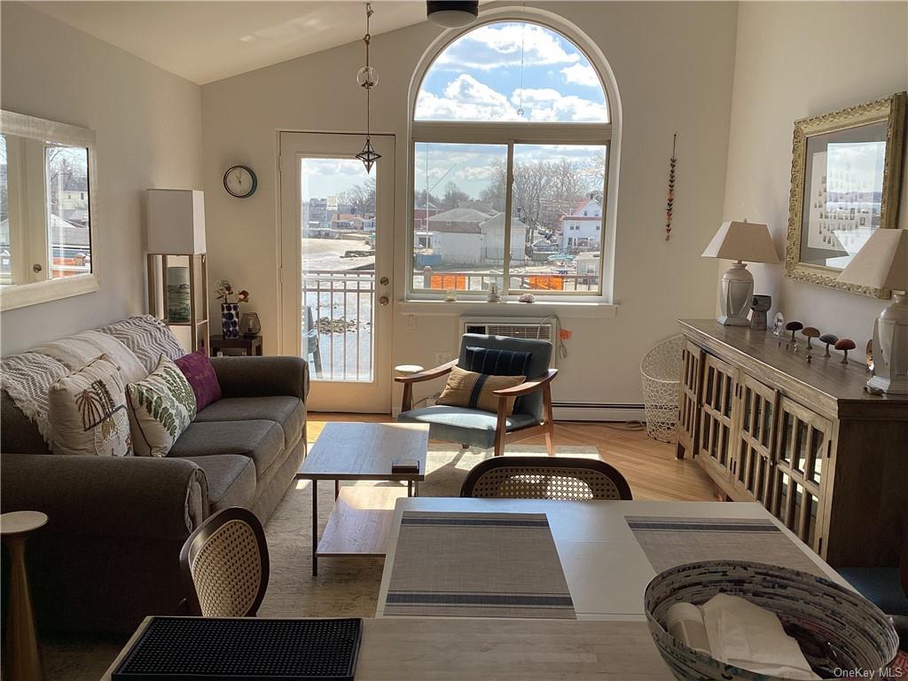
<instances>
[{"instance_id":1,"label":"boxy white shade of the floor lamp behind the sofa","mask_svg":"<svg viewBox=\"0 0 908 681\"><path fill-rule=\"evenodd\" d=\"M149 253L197 255L205 252L204 192L194 189L148 190Z\"/></svg>"}]
</instances>

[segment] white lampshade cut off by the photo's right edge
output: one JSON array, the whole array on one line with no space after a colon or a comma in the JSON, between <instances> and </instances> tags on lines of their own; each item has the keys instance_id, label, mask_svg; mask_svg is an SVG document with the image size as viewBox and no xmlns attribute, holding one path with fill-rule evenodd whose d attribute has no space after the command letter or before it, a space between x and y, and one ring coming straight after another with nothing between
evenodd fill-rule
<instances>
[{"instance_id":1,"label":"white lampshade cut off by the photo's right edge","mask_svg":"<svg viewBox=\"0 0 908 681\"><path fill-rule=\"evenodd\" d=\"M839 281L874 289L908 291L908 230L873 232L839 274Z\"/></svg>"}]
</instances>

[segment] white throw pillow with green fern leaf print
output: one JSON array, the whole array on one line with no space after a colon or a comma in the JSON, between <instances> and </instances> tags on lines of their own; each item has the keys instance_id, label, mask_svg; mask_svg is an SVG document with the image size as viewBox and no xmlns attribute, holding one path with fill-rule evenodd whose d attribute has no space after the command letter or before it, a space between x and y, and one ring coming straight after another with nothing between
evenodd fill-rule
<instances>
[{"instance_id":1,"label":"white throw pillow with green fern leaf print","mask_svg":"<svg viewBox=\"0 0 908 681\"><path fill-rule=\"evenodd\" d=\"M148 376L126 386L126 397L138 456L166 456L195 416L192 386L163 355Z\"/></svg>"}]
</instances>

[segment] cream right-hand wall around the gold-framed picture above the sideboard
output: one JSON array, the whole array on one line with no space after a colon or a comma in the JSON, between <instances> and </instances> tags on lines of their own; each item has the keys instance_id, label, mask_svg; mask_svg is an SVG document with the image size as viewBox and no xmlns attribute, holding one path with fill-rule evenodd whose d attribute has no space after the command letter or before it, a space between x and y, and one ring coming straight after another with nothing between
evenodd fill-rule
<instances>
[{"instance_id":1,"label":"cream right-hand wall around the gold-framed picture above the sideboard","mask_svg":"<svg viewBox=\"0 0 908 681\"><path fill-rule=\"evenodd\" d=\"M853 35L871 37L852 41ZM784 256L795 120L906 88L905 3L742 3L725 220L765 222ZM906 216L903 199L903 228ZM787 280L783 265L749 269L755 292L773 296L772 314L781 310L786 320L848 336L859 348L873 335L873 320L888 304Z\"/></svg>"}]
</instances>

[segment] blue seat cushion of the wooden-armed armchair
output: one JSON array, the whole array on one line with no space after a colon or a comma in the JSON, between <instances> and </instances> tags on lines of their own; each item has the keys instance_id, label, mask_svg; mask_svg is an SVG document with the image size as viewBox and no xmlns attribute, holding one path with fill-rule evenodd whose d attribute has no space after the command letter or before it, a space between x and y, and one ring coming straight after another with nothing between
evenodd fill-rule
<instances>
[{"instance_id":1,"label":"blue seat cushion of the wooden-armed armchair","mask_svg":"<svg viewBox=\"0 0 908 681\"><path fill-rule=\"evenodd\" d=\"M429 437L449 442L470 444L482 449L495 446L497 415L489 411L470 410L465 407L435 405L418 410L403 411L398 415L400 423L428 423ZM507 429L517 430L535 426L538 420L529 414L513 414L508 417Z\"/></svg>"}]
</instances>

